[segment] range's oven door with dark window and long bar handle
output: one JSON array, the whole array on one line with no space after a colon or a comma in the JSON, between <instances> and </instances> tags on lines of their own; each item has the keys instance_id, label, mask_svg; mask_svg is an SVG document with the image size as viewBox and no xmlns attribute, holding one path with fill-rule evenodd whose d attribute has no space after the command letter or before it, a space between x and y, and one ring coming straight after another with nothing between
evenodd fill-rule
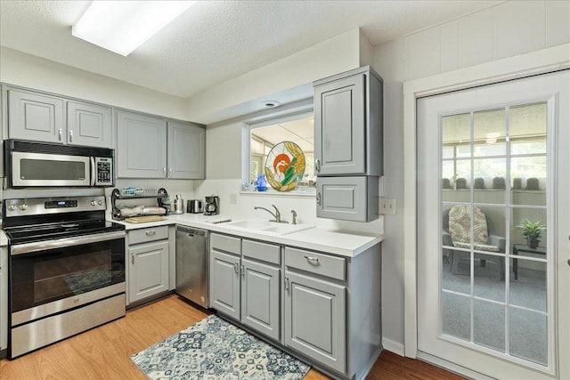
<instances>
[{"instance_id":1,"label":"range's oven door with dark window and long bar handle","mask_svg":"<svg viewBox=\"0 0 570 380\"><path fill-rule=\"evenodd\" d=\"M11 326L125 293L125 231L10 246Z\"/></svg>"}]
</instances>

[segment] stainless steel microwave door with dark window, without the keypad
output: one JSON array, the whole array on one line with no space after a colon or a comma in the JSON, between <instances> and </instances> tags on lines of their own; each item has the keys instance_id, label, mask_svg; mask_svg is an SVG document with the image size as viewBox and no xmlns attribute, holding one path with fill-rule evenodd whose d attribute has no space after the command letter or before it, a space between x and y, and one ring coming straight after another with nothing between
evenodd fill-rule
<instances>
[{"instance_id":1,"label":"stainless steel microwave door with dark window, without the keypad","mask_svg":"<svg viewBox=\"0 0 570 380\"><path fill-rule=\"evenodd\" d=\"M12 151L12 186L89 186L91 158Z\"/></svg>"}]
</instances>

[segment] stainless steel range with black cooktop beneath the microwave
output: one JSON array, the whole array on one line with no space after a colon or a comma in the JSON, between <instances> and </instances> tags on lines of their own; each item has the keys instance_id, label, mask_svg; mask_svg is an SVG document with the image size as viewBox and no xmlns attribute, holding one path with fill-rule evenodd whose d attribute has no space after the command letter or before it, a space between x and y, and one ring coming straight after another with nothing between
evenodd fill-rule
<instances>
[{"instance_id":1,"label":"stainless steel range with black cooktop beneath the microwave","mask_svg":"<svg viewBox=\"0 0 570 380\"><path fill-rule=\"evenodd\" d=\"M125 227L105 197L4 200L15 358L125 315Z\"/></svg>"}]
</instances>

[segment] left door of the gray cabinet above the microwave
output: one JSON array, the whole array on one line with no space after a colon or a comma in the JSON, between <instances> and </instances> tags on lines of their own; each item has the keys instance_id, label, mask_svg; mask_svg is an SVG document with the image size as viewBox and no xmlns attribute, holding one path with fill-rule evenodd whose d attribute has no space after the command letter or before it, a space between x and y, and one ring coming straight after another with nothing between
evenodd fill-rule
<instances>
[{"instance_id":1,"label":"left door of the gray cabinet above the microwave","mask_svg":"<svg viewBox=\"0 0 570 380\"><path fill-rule=\"evenodd\" d=\"M64 142L63 100L39 93L8 90L8 137Z\"/></svg>"}]
</instances>

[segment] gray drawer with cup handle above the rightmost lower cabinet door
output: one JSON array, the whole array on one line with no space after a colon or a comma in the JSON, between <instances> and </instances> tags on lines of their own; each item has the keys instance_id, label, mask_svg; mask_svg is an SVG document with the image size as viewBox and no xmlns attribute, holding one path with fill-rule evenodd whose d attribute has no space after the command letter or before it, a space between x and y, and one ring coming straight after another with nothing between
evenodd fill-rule
<instances>
[{"instance_id":1,"label":"gray drawer with cup handle above the rightmost lower cabinet door","mask_svg":"<svg viewBox=\"0 0 570 380\"><path fill-rule=\"evenodd\" d=\"M346 279L345 259L285 247L285 265L333 279Z\"/></svg>"}]
</instances>

